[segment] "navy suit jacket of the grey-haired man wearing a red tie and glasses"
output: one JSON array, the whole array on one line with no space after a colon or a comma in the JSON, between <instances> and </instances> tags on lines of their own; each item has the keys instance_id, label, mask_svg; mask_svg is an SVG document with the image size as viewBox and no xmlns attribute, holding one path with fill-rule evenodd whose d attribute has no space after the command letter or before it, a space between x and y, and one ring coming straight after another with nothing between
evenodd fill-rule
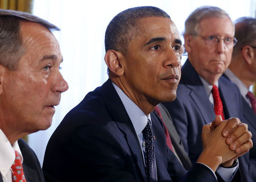
<instances>
[{"instance_id":1,"label":"navy suit jacket of the grey-haired man wearing a red tie and glasses","mask_svg":"<svg viewBox=\"0 0 256 182\"><path fill-rule=\"evenodd\" d=\"M237 86L226 78L221 77L218 80L218 87L225 118L241 118L242 101ZM177 87L176 100L163 103L163 105L166 106L172 117L177 133L180 135L189 158L192 163L195 163L203 150L201 142L202 127L214 121L216 115L204 85L189 60L185 62L181 69L181 80ZM250 181L248 179L248 158L249 155L246 154L240 159L243 181Z\"/></svg>"}]
</instances>

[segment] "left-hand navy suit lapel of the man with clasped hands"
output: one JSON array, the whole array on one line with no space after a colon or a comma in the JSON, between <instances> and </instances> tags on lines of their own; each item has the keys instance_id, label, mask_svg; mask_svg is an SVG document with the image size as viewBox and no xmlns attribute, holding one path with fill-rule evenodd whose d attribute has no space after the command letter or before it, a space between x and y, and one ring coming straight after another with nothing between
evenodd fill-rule
<instances>
[{"instance_id":1,"label":"left-hand navy suit lapel of the man with clasped hands","mask_svg":"<svg viewBox=\"0 0 256 182\"><path fill-rule=\"evenodd\" d=\"M109 113L112 115L112 118L117 123L119 129L123 132L127 144L138 163L138 167L141 169L142 176L144 177L144 180L146 180L146 171L137 134L135 133L129 115L125 110L125 106L123 106L122 101L110 80L106 81L105 84L101 86L101 94L105 98L105 104L109 109Z\"/></svg>"}]
</instances>

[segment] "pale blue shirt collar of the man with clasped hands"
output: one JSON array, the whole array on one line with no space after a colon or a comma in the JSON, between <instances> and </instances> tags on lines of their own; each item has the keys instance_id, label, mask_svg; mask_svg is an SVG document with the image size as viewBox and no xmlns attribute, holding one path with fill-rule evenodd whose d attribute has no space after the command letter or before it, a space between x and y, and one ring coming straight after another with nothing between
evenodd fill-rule
<instances>
[{"instance_id":1,"label":"pale blue shirt collar of the man with clasped hands","mask_svg":"<svg viewBox=\"0 0 256 182\"><path fill-rule=\"evenodd\" d=\"M126 96L123 91L112 82L115 90L117 91L118 96L121 98L123 105L129 115L131 122L133 123L133 127L135 129L136 134L142 133L142 130L147 125L147 119L150 119L150 114L146 115L143 111L133 102L130 100L129 97Z\"/></svg>"}]
</instances>

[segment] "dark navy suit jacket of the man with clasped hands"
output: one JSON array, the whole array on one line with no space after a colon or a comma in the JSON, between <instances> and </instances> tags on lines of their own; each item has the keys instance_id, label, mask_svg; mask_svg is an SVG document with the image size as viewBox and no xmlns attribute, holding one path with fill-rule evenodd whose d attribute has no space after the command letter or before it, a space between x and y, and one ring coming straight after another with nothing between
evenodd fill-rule
<instances>
[{"instance_id":1,"label":"dark navy suit jacket of the man with clasped hands","mask_svg":"<svg viewBox=\"0 0 256 182\"><path fill-rule=\"evenodd\" d=\"M202 164L189 172L168 149L162 122L151 114L158 181L216 181ZM46 181L146 181L137 134L112 82L88 93L49 139Z\"/></svg>"}]
</instances>

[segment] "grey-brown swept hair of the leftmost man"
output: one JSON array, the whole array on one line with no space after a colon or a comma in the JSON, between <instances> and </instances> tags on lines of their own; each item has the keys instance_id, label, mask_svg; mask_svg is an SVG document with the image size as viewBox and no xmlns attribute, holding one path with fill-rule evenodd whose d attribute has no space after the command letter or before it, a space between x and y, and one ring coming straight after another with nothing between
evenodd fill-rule
<instances>
[{"instance_id":1,"label":"grey-brown swept hair of the leftmost man","mask_svg":"<svg viewBox=\"0 0 256 182\"><path fill-rule=\"evenodd\" d=\"M60 29L38 16L21 11L0 9L0 64L14 70L26 48L20 34L20 22L34 22L49 31Z\"/></svg>"}]
</instances>

